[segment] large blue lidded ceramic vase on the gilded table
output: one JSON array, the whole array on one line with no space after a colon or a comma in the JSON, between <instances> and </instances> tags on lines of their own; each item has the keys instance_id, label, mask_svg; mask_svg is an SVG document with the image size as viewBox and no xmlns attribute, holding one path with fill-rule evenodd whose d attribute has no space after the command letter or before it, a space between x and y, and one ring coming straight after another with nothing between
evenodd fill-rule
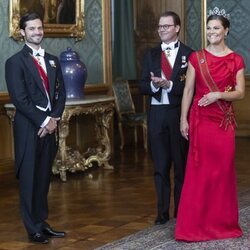
<instances>
[{"instance_id":1,"label":"large blue lidded ceramic vase on the gilded table","mask_svg":"<svg viewBox=\"0 0 250 250\"><path fill-rule=\"evenodd\" d=\"M87 79L87 68L80 61L79 55L71 48L67 48L60 54L67 100L82 99L84 97L84 85Z\"/></svg>"}]
</instances>

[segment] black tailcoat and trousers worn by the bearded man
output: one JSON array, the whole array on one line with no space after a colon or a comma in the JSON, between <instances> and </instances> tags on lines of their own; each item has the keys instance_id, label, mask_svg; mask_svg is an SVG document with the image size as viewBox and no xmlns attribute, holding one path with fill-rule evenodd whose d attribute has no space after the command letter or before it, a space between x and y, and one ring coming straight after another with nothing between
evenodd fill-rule
<instances>
[{"instance_id":1,"label":"black tailcoat and trousers worn by the bearded man","mask_svg":"<svg viewBox=\"0 0 250 250\"><path fill-rule=\"evenodd\" d=\"M45 53L51 110L34 63L25 45L5 64L5 78L14 117L16 175L19 178L21 212L28 233L41 231L48 217L47 193L51 168L57 151L56 134L40 138L37 133L47 116L60 118L65 106L65 87L58 58ZM38 108L39 107L39 108Z\"/></svg>"}]
</instances>

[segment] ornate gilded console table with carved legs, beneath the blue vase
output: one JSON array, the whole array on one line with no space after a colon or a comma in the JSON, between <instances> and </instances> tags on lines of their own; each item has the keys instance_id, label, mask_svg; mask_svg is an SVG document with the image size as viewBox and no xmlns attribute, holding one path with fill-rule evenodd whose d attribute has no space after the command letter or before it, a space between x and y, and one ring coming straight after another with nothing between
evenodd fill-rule
<instances>
[{"instance_id":1,"label":"ornate gilded console table with carved legs, beneath the blue vase","mask_svg":"<svg viewBox=\"0 0 250 250\"><path fill-rule=\"evenodd\" d=\"M13 120L15 108L6 104L7 115ZM104 169L113 169L109 164L111 158L111 141L109 128L114 113L114 98L104 95L85 96L82 100L66 101L65 110L59 123L59 150L52 168L53 174L60 174L62 181L67 180L67 171L85 171L92 167L93 162ZM94 115L95 132L98 146L80 153L66 145L69 135L69 121L73 116Z\"/></svg>"}]
</instances>

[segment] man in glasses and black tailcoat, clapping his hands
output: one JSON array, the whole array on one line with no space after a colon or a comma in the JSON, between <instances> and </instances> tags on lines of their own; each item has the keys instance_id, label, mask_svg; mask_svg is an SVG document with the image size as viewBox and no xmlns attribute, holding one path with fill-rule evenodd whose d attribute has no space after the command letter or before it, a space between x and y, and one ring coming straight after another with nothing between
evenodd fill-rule
<instances>
[{"instance_id":1,"label":"man in glasses and black tailcoat, clapping his hands","mask_svg":"<svg viewBox=\"0 0 250 250\"><path fill-rule=\"evenodd\" d=\"M158 34L162 43L145 54L140 81L141 93L150 97L148 133L157 193L156 225L169 220L172 163L174 217L177 216L188 151L187 141L180 133L180 111L192 49L178 40L180 25L179 16L172 11L160 16Z\"/></svg>"}]
</instances>

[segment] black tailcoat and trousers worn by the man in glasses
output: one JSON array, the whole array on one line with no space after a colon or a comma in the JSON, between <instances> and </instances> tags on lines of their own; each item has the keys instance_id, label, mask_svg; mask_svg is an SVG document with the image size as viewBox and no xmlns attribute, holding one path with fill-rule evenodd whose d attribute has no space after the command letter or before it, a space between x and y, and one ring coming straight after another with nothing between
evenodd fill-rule
<instances>
[{"instance_id":1,"label":"black tailcoat and trousers worn by the man in glasses","mask_svg":"<svg viewBox=\"0 0 250 250\"><path fill-rule=\"evenodd\" d=\"M158 215L169 219L170 203L170 168L174 167L174 200L175 211L179 203L181 187L183 184L186 157L188 150L187 141L180 133L180 112L188 58L192 49L179 42L179 49L172 69L170 79L173 82L168 93L169 104L151 105L151 99L161 100L162 88L156 93L151 89L151 75L161 77L161 54L159 44L147 51L143 59L140 81L140 91L149 96L148 133L149 147L154 162L154 178L158 200Z\"/></svg>"}]
</instances>

